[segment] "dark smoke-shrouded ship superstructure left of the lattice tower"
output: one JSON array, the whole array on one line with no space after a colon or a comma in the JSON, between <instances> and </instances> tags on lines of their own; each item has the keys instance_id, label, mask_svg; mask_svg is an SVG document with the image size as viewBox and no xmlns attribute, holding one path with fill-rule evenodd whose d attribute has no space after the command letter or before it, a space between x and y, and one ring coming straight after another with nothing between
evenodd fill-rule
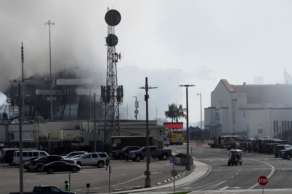
<instances>
[{"instance_id":1,"label":"dark smoke-shrouded ship superstructure left of the lattice tower","mask_svg":"<svg viewBox=\"0 0 292 194\"><path fill-rule=\"evenodd\" d=\"M94 107L90 92L96 93L99 101L100 85L105 79L104 71L105 69L97 65L83 65L53 73L53 120L90 118L90 106L92 109ZM48 120L50 118L50 76L35 73L27 80L30 82L24 86L24 121L31 121L37 116ZM18 118L17 94L17 85L13 85L9 94L5 94L8 97L10 120ZM104 112L99 106L100 104L96 103L98 118L101 112Z\"/></svg>"}]
</instances>

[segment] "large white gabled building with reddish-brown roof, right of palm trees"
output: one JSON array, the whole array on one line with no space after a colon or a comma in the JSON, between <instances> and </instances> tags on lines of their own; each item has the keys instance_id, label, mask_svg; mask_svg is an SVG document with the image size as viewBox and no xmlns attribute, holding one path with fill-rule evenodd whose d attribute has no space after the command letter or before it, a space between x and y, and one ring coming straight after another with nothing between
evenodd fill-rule
<instances>
[{"instance_id":1,"label":"large white gabled building with reddish-brown roof, right of palm trees","mask_svg":"<svg viewBox=\"0 0 292 194\"><path fill-rule=\"evenodd\" d=\"M205 108L205 129L248 133L250 138L274 137L292 129L292 85L230 85L221 79Z\"/></svg>"}]
</instances>

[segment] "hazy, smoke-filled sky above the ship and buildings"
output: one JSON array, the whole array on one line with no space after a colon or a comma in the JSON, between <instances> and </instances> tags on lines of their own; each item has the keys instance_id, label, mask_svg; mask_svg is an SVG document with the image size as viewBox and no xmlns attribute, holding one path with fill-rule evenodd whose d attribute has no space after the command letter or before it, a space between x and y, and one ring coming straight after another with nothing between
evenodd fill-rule
<instances>
[{"instance_id":1,"label":"hazy, smoke-filled sky above the ship and buildings","mask_svg":"<svg viewBox=\"0 0 292 194\"><path fill-rule=\"evenodd\" d=\"M44 25L48 20L55 23L52 71L69 65L106 65L107 7L122 16L115 27L116 50L123 56L119 67L194 70L208 65L216 70L215 81L188 79L177 84L196 85L189 89L190 122L200 120L196 93L202 93L202 109L209 107L210 93L220 79L233 85L253 82L255 76L283 81L284 66L292 74L292 1L1 0L0 90L9 79L21 76L21 42L25 75L49 73L49 30ZM181 103L168 103L175 101Z\"/></svg>"}]
</instances>

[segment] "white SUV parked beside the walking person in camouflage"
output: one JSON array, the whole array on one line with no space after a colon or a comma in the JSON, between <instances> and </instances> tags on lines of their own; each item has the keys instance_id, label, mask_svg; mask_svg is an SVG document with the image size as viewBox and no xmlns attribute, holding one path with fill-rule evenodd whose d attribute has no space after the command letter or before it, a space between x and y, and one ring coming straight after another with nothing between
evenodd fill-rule
<instances>
[{"instance_id":1,"label":"white SUV parked beside the walking person in camouflage","mask_svg":"<svg viewBox=\"0 0 292 194\"><path fill-rule=\"evenodd\" d=\"M79 166L86 166L86 165L96 165L97 168L102 168L104 166L104 162L107 159L107 153L103 152L93 152L83 154L79 158L72 158L76 160Z\"/></svg>"}]
</instances>

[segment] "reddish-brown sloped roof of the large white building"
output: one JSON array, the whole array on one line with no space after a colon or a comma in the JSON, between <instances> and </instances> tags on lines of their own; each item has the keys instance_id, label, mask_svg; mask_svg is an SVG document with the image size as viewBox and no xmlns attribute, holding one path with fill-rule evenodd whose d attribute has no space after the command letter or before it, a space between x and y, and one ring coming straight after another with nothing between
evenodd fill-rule
<instances>
[{"instance_id":1,"label":"reddish-brown sloped roof of the large white building","mask_svg":"<svg viewBox=\"0 0 292 194\"><path fill-rule=\"evenodd\" d=\"M247 103L291 103L292 85L230 85L221 79L230 93L246 93Z\"/></svg>"}]
</instances>

